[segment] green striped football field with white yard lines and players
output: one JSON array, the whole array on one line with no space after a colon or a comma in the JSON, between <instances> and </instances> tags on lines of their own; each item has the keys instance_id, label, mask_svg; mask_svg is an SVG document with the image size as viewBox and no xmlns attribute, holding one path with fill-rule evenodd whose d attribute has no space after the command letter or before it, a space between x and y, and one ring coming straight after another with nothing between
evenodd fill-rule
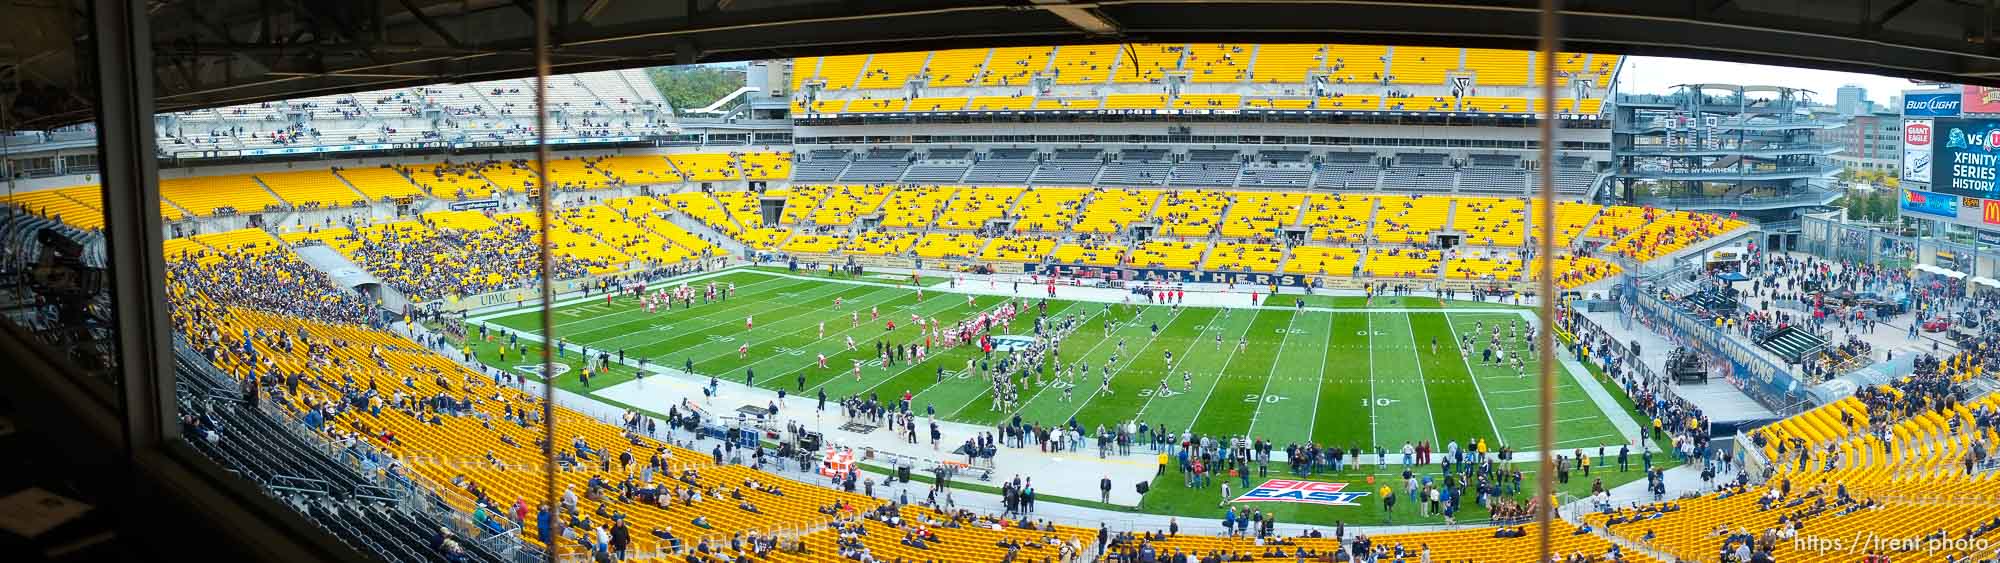
<instances>
[{"instance_id":1,"label":"green striped football field with white yard lines and players","mask_svg":"<svg viewBox=\"0 0 2000 563\"><path fill-rule=\"evenodd\" d=\"M634 367L618 367L610 375L580 381L582 355L576 345L624 351L628 359L652 365L684 367L724 381L742 381L754 371L756 385L786 389L798 395L826 391L828 399L846 395L900 397L916 395L914 407L936 407L942 419L992 425L1012 415L1024 421L1062 423L1076 417L1086 427L1140 419L1206 435L1252 435L1276 443L1318 441L1328 445L1380 445L1398 451L1404 441L1486 439L1516 449L1536 449L1536 365L1530 377L1518 377L1514 367L1480 365L1478 351L1470 361L1460 355L1458 335L1474 325L1506 325L1526 321L1518 307L1494 303L1440 303L1430 297L1380 297L1372 305L1362 297L1276 295L1266 307L1166 307L1166 305L1106 305L1092 301L1048 301L1050 315L1078 315L1082 327L1060 347L1064 361L1082 359L1096 365L1118 353L1110 391L1098 391L1098 375L1080 379L1070 399L1060 385L1034 385L1032 375L1016 409L992 409L990 383L974 373L962 373L966 359L978 357L976 347L932 349L924 363L882 367L874 355L876 341L920 341L906 327L912 313L956 323L978 311L1000 305L1002 295L978 295L972 303L962 293L926 289L918 299L914 287L894 278L832 280L788 276L764 270L734 270L712 278L736 283L736 295L726 301L676 307L648 313L636 297L612 303L576 299L554 311L556 335L570 345L560 361L558 387L590 393L630 381ZM696 282L706 283L706 282ZM1022 293L1040 293L1024 285ZM834 309L834 297L844 307ZM1040 299L1022 297L1026 311L1014 323L1016 333L1030 333L1028 315ZM1308 309L1296 311L1294 299L1306 299ZM880 309L882 321L896 319L898 329L870 321L868 309ZM860 325L850 325L850 311L860 309ZM744 317L754 315L756 327L744 329ZM1106 333L1104 319L1110 319ZM818 325L826 323L826 337ZM478 325L540 333L540 311L500 313L472 321ZM1158 325L1158 335L1152 327ZM498 331L496 331L498 333ZM1220 345L1218 345L1220 335ZM858 351L846 351L854 337ZM1236 341L1248 339L1238 351ZM1432 351L1436 339L1436 351ZM1486 335L1474 337L1486 343ZM500 355L506 337L476 343L476 355L500 369L534 375L538 367L522 361L522 349ZM528 343L528 339L522 339ZM738 347L748 345L748 357ZM1524 353L1526 343L1502 331L1508 353ZM528 353L538 353L538 347ZM1164 353L1172 351L1176 367L1166 369ZM828 355L828 367L814 363ZM868 361L862 379L852 375L854 361ZM938 377L938 365L946 375ZM1182 369L1192 373L1192 385L1182 383ZM1624 441L1606 413L1580 387L1578 377L1560 369L1556 447L1596 447ZM1166 379L1166 391L1160 381ZM1592 383L1596 385L1596 383Z\"/></svg>"}]
</instances>

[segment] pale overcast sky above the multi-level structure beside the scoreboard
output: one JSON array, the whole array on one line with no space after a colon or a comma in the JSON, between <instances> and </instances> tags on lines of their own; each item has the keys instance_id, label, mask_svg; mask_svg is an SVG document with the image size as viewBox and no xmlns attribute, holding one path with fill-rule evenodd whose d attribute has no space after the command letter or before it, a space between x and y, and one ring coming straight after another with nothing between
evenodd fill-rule
<instances>
[{"instance_id":1,"label":"pale overcast sky above the multi-level structure beside the scoreboard","mask_svg":"<svg viewBox=\"0 0 2000 563\"><path fill-rule=\"evenodd\" d=\"M1694 82L1804 88L1812 90L1812 100L1820 104L1834 104L1834 88L1844 84L1868 88L1868 100L1876 104L1888 104L1890 96L1918 88L1910 80L1876 74L1660 56L1626 58L1624 70L1618 72L1620 94L1666 94L1676 84Z\"/></svg>"}]
</instances>

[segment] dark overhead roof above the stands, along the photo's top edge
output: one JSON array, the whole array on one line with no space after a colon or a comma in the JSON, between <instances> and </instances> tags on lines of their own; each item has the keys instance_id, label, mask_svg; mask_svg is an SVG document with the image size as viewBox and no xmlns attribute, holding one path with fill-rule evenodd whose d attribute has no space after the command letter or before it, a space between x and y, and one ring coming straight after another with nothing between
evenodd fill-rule
<instances>
[{"instance_id":1,"label":"dark overhead roof above the stands, along the photo's top edge","mask_svg":"<svg viewBox=\"0 0 2000 563\"><path fill-rule=\"evenodd\" d=\"M558 74L1080 42L1376 42L1534 48L1536 0L546 0ZM1656 54L2000 86L1988 2L1562 2L1564 50ZM160 112L534 72L536 0L42 0L0 20L16 126L88 120L92 10L144 14ZM106 32L110 34L110 32Z\"/></svg>"}]
</instances>

